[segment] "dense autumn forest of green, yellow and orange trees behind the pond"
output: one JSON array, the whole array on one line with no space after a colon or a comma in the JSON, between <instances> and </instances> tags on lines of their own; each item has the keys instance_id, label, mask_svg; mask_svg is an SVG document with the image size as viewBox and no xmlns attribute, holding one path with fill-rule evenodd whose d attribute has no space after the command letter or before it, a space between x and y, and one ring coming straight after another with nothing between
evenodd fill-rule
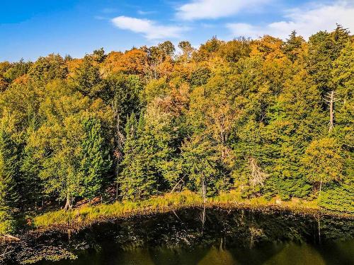
<instances>
[{"instance_id":1,"label":"dense autumn forest of green, yellow and orange trees behind the pond","mask_svg":"<svg viewBox=\"0 0 354 265\"><path fill-rule=\"evenodd\" d=\"M354 37L212 37L0 63L0 233L114 190L354 213Z\"/></svg>"}]
</instances>

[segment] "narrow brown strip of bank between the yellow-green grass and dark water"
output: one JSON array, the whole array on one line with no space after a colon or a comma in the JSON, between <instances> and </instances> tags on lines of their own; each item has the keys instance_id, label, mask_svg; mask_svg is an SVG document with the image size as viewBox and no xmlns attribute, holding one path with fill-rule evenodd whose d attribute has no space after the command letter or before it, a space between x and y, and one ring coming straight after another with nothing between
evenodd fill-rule
<instances>
[{"instance_id":1,"label":"narrow brown strip of bank between the yellow-green grass and dark water","mask_svg":"<svg viewBox=\"0 0 354 265\"><path fill-rule=\"evenodd\" d=\"M42 226L38 228L28 229L15 236L12 235L1 235L2 240L0 245L12 245L21 244L30 238L35 240L35 238L40 238L42 235L51 232L58 232L64 234L78 233L82 230L90 228L92 225L104 225L105 223L118 223L122 221L137 221L140 219L154 218L156 216L173 213L178 218L176 211L185 211L198 209L202 211L204 208L203 204L195 204L188 206L171 206L171 207L160 207L155 211L151 211L148 208L142 208L135 211L130 211L125 213L124 216L101 216L99 218L92 219L86 222L73 221L72 223L56 223L52 225ZM285 213L292 214L294 216L308 217L308 218L336 218L336 219L346 219L354 220L354 214L350 213L338 213L333 211L328 211L324 209L314 209L314 208L290 208L289 206L280 206L277 204L268 205L258 205L254 206L247 203L238 202L228 202L228 203L215 203L209 202L205 205L206 210L222 210L222 211L252 211L253 213L261 214L271 214L271 213ZM72 210L74 211L74 210ZM13 237L13 240L11 239Z\"/></svg>"}]
</instances>

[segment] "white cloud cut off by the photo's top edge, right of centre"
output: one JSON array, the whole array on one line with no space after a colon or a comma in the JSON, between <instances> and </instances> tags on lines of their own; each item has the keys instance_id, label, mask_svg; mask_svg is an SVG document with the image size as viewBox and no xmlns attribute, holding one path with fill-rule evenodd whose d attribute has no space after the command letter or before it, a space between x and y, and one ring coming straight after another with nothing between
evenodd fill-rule
<instances>
[{"instance_id":1,"label":"white cloud cut off by the photo's top edge, right of centre","mask_svg":"<svg viewBox=\"0 0 354 265\"><path fill-rule=\"evenodd\" d=\"M268 2L270 0L193 0L179 6L176 16L182 20L224 18Z\"/></svg>"}]
</instances>

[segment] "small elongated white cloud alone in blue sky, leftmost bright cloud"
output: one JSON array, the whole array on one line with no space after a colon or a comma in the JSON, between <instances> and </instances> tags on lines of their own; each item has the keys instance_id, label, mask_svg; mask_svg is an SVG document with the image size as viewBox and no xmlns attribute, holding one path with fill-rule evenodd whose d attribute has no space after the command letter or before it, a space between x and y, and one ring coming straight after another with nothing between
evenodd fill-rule
<instances>
[{"instance_id":1,"label":"small elongated white cloud alone in blue sky, leftmost bright cloud","mask_svg":"<svg viewBox=\"0 0 354 265\"><path fill-rule=\"evenodd\" d=\"M148 40L179 37L187 28L176 25L159 25L153 20L118 16L112 19L113 25L122 30L141 33Z\"/></svg>"}]
</instances>

